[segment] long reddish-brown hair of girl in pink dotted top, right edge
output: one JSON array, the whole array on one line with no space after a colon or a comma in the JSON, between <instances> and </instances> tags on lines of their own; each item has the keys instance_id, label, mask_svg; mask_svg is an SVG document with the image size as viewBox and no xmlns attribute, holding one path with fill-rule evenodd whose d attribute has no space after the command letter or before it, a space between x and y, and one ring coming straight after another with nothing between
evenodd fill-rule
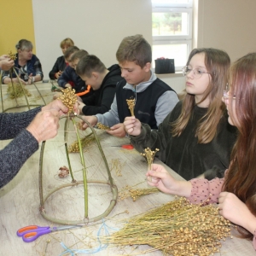
<instances>
[{"instance_id":1,"label":"long reddish-brown hair of girl in pink dotted top, right edge","mask_svg":"<svg viewBox=\"0 0 256 256\"><path fill-rule=\"evenodd\" d=\"M229 113L239 134L224 191L234 193L256 216L256 53L241 57L230 67L229 82L229 104L235 104L236 115L233 108ZM253 237L247 230L239 230L242 237Z\"/></svg>"}]
</instances>

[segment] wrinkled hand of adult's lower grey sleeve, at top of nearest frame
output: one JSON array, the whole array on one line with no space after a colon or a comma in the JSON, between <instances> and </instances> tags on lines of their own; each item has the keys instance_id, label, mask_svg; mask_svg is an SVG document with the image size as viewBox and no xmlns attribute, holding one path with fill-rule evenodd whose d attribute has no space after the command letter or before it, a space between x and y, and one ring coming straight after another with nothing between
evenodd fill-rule
<instances>
[{"instance_id":1,"label":"wrinkled hand of adult's lower grey sleeve, at top of nearest frame","mask_svg":"<svg viewBox=\"0 0 256 256\"><path fill-rule=\"evenodd\" d=\"M26 130L32 133L38 143L41 143L57 135L59 119L60 113L55 109L41 111L27 126Z\"/></svg>"}]
</instances>

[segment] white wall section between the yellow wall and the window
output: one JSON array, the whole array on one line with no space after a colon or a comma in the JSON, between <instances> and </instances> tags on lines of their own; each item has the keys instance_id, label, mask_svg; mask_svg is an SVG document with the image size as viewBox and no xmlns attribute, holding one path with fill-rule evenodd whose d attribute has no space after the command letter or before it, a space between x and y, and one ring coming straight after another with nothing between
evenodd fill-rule
<instances>
[{"instance_id":1,"label":"white wall section between the yellow wall and the window","mask_svg":"<svg viewBox=\"0 0 256 256\"><path fill-rule=\"evenodd\" d=\"M127 36L143 34L152 43L151 0L32 0L37 55L44 78L58 56L60 43L72 38L79 49L97 55L110 67Z\"/></svg>"}]
</instances>

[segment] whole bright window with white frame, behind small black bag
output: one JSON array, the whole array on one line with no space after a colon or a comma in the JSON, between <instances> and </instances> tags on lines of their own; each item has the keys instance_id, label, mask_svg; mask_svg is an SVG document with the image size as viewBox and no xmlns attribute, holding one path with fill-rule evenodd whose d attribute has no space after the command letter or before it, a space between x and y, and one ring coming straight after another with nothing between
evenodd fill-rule
<instances>
[{"instance_id":1,"label":"whole bright window with white frame, behind small black bag","mask_svg":"<svg viewBox=\"0 0 256 256\"><path fill-rule=\"evenodd\" d=\"M181 71L192 48L192 1L152 0L153 68L160 57Z\"/></svg>"}]
</instances>

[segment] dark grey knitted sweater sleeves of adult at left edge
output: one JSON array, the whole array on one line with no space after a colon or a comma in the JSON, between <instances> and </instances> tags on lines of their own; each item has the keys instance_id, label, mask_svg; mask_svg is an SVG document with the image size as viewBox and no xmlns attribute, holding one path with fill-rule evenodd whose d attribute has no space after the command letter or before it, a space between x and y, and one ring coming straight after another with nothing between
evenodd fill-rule
<instances>
[{"instance_id":1,"label":"dark grey knitted sweater sleeves of adult at left edge","mask_svg":"<svg viewBox=\"0 0 256 256\"><path fill-rule=\"evenodd\" d=\"M0 139L15 138L0 150L0 188L9 183L38 150L38 141L25 128L40 111L41 107L22 113L0 113Z\"/></svg>"}]
</instances>

